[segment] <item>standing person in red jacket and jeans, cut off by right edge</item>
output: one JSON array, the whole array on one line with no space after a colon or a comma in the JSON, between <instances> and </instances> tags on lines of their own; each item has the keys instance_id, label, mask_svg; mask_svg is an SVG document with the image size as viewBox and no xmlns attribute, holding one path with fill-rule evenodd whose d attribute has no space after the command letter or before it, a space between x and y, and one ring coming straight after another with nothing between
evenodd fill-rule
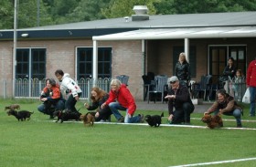
<instances>
[{"instance_id":1,"label":"standing person in red jacket and jeans, cut off by right edge","mask_svg":"<svg viewBox=\"0 0 256 167\"><path fill-rule=\"evenodd\" d=\"M252 60L247 68L246 85L250 89L251 104L250 104L250 117L255 117L255 100L256 100L256 59Z\"/></svg>"}]
</instances>

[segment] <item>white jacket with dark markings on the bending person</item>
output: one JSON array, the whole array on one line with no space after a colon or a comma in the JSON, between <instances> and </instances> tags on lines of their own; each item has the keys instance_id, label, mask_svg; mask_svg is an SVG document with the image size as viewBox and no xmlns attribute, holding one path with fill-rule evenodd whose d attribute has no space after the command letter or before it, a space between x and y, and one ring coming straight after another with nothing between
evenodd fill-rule
<instances>
[{"instance_id":1,"label":"white jacket with dark markings on the bending person","mask_svg":"<svg viewBox=\"0 0 256 167\"><path fill-rule=\"evenodd\" d=\"M69 74L65 73L62 81L60 82L60 89L67 92L71 91L73 97L77 97L78 93L81 93L80 86L72 79L69 78Z\"/></svg>"}]
</instances>

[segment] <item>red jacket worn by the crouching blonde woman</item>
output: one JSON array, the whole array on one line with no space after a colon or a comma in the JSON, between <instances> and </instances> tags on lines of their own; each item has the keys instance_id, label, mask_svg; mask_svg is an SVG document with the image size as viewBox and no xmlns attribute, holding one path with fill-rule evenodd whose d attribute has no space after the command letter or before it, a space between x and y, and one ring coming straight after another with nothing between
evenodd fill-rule
<instances>
[{"instance_id":1,"label":"red jacket worn by the crouching blonde woman","mask_svg":"<svg viewBox=\"0 0 256 167\"><path fill-rule=\"evenodd\" d=\"M128 109L128 113L133 115L136 110L135 100L130 90L126 88L126 85L122 84L120 89L116 91L110 91L110 97L106 101L106 104L109 105L111 102L117 100L123 108Z\"/></svg>"}]
</instances>

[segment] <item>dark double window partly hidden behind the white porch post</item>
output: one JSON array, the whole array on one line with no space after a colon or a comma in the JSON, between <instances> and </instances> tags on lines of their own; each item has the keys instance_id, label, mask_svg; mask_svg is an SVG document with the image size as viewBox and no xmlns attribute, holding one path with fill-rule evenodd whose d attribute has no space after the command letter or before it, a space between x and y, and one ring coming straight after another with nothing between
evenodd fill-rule
<instances>
[{"instance_id":1,"label":"dark double window partly hidden behind the white porch post","mask_svg":"<svg viewBox=\"0 0 256 167\"><path fill-rule=\"evenodd\" d=\"M92 77L92 47L78 47L78 79ZM98 78L111 78L112 48L98 48Z\"/></svg>"}]
</instances>

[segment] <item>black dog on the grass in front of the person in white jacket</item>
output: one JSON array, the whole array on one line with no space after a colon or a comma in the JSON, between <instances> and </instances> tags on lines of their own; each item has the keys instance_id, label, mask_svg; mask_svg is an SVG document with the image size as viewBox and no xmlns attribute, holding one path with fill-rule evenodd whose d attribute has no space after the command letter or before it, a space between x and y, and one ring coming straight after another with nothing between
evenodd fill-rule
<instances>
[{"instance_id":1,"label":"black dog on the grass in front of the person in white jacket","mask_svg":"<svg viewBox=\"0 0 256 167\"><path fill-rule=\"evenodd\" d=\"M58 117L58 120L56 120L56 122L58 122L60 120L60 123L62 123L63 121L67 121L67 120L80 120L80 112L71 112L69 110L56 110L53 112L53 117Z\"/></svg>"}]
</instances>

